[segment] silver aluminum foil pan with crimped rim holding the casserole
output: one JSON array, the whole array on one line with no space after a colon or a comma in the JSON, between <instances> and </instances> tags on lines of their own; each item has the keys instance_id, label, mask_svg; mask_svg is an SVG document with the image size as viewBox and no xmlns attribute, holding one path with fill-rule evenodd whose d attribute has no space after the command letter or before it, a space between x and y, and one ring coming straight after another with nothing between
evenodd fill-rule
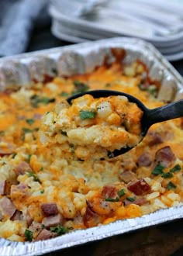
<instances>
[{"instance_id":1,"label":"silver aluminum foil pan with crimped rim holding the casserole","mask_svg":"<svg viewBox=\"0 0 183 256\"><path fill-rule=\"evenodd\" d=\"M133 38L115 38L81 43L68 47L41 50L30 54L4 57L0 60L0 90L12 87L29 88L35 81L44 81L45 77L55 75L84 74L92 71L106 59L114 59L111 48L126 50L124 61L130 63L136 58L145 62L150 68L150 77L161 81L158 98L171 102L183 97L183 78L174 67L150 44ZM107 58L106 58L107 57ZM168 89L167 89L168 88ZM117 234L152 227L183 217L183 206L160 209L138 218L117 220L100 227L87 230L74 230L69 234L50 240L36 242L12 242L0 239L1 256L43 255L91 241L102 240Z\"/></svg>"}]
</instances>

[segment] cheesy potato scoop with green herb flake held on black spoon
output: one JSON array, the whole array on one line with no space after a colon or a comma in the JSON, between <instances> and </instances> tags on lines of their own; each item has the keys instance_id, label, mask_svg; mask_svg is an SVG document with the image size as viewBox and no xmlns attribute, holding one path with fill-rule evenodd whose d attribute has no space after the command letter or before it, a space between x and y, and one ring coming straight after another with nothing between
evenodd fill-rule
<instances>
[{"instance_id":1,"label":"cheesy potato scoop with green herb flake held on black spoon","mask_svg":"<svg viewBox=\"0 0 183 256\"><path fill-rule=\"evenodd\" d=\"M65 148L72 144L74 157L104 160L112 151L140 142L142 116L143 111L125 96L94 99L83 95L71 106L67 101L58 103L43 116L40 137L43 132L43 142L47 137L48 144L60 144L65 158Z\"/></svg>"}]
</instances>

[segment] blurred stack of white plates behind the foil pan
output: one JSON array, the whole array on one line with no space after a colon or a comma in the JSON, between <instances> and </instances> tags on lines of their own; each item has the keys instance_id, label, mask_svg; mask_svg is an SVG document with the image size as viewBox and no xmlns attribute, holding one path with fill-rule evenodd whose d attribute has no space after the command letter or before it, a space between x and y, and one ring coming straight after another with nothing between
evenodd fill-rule
<instances>
[{"instance_id":1,"label":"blurred stack of white plates behind the foil pan","mask_svg":"<svg viewBox=\"0 0 183 256\"><path fill-rule=\"evenodd\" d=\"M74 43L135 36L183 58L183 0L52 0L52 33Z\"/></svg>"}]
</instances>

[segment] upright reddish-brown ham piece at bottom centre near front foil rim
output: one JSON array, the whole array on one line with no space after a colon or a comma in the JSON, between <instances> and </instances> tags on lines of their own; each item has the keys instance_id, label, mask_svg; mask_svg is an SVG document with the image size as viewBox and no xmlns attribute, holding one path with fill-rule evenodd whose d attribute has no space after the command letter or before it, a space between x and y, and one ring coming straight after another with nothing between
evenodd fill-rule
<instances>
[{"instance_id":1,"label":"upright reddish-brown ham piece at bottom centre near front foil rim","mask_svg":"<svg viewBox=\"0 0 183 256\"><path fill-rule=\"evenodd\" d=\"M87 202L87 207L85 214L83 216L83 223L85 224L86 227L95 227L97 226L98 223L101 222L101 217L97 214L94 213L91 209L91 206Z\"/></svg>"}]
</instances>

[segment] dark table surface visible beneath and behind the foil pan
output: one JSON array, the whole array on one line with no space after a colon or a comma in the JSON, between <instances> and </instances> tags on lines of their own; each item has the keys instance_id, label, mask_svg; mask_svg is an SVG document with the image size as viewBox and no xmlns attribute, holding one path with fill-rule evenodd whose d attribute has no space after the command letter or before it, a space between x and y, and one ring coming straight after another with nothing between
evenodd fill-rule
<instances>
[{"instance_id":1,"label":"dark table surface visible beneath and behind the foil pan","mask_svg":"<svg viewBox=\"0 0 183 256\"><path fill-rule=\"evenodd\" d=\"M60 47L71 44L58 40L50 32L50 20L37 24L26 52ZM183 59L171 62L183 75ZM110 237L105 240L64 251L56 251L47 256L183 256L183 220L165 223L158 227L138 230L129 234Z\"/></svg>"}]
</instances>

